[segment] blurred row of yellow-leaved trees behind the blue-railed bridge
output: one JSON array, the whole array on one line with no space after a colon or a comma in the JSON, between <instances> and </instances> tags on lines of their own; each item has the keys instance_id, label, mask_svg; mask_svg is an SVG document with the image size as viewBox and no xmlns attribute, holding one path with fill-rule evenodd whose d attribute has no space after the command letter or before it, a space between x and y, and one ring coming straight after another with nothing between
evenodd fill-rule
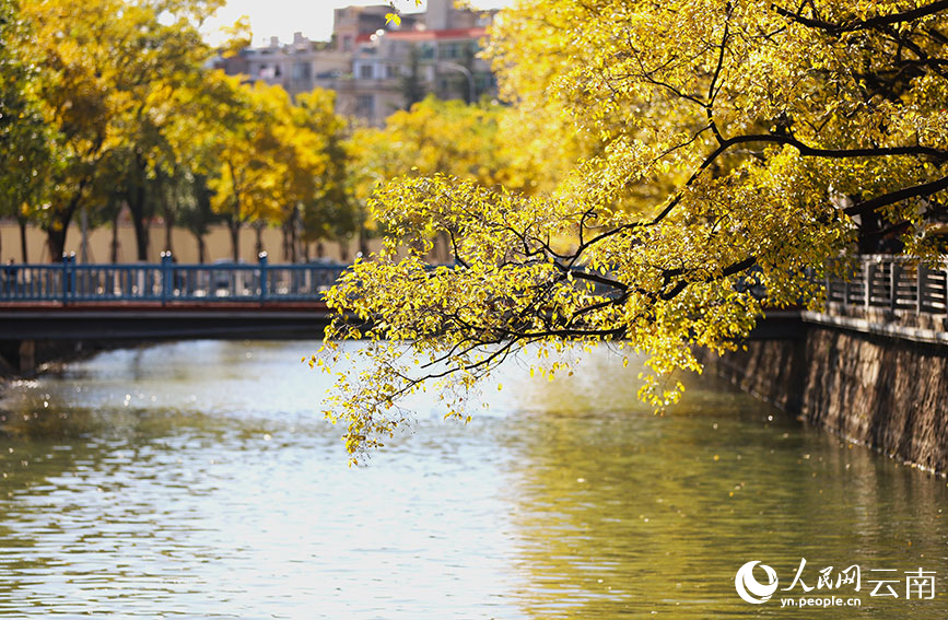
<instances>
[{"instance_id":1,"label":"blurred row of yellow-leaved trees behind the blue-railed bridge","mask_svg":"<svg viewBox=\"0 0 948 620\"><path fill-rule=\"evenodd\" d=\"M0 0L0 218L14 218L22 237L39 226L54 260L80 214L115 231L122 212L139 260L156 218L165 249L182 226L201 260L203 236L221 222L235 260L245 226L258 244L264 227L280 226L299 260L317 239L358 235L364 246L366 201L389 177L514 180L500 172L496 105L425 100L385 129L353 129L331 91L292 101L209 69L216 50L199 28L222 3ZM233 34L232 49L246 43L239 27Z\"/></svg>"}]
</instances>

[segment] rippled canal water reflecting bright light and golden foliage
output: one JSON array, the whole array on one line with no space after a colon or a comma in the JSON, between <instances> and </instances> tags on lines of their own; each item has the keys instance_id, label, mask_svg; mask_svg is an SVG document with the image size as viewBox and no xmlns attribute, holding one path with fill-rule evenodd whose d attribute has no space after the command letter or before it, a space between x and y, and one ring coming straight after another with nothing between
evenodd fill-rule
<instances>
[{"instance_id":1,"label":"rippled canal water reflecting bright light and golden foliage","mask_svg":"<svg viewBox=\"0 0 948 620\"><path fill-rule=\"evenodd\" d=\"M182 342L9 385L0 616L948 616L946 481L727 385L691 377L658 417L608 351L552 384L511 364L467 426L422 402L350 469L300 363L317 347ZM745 603L751 561L791 589ZM816 596L843 604L782 607Z\"/></svg>"}]
</instances>

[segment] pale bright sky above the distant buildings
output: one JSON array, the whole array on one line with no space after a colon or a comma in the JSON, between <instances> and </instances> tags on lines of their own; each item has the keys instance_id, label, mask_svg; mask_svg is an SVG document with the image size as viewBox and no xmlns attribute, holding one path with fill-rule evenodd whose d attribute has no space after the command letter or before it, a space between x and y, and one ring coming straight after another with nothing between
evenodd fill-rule
<instances>
[{"instance_id":1,"label":"pale bright sky above the distant buildings","mask_svg":"<svg viewBox=\"0 0 948 620\"><path fill-rule=\"evenodd\" d=\"M476 0L471 2L479 9L500 9L511 0ZM332 10L354 4L385 4L385 0L227 0L216 16L203 28L208 40L219 44L222 40L216 31L236 22L242 15L250 17L254 31L254 45L270 42L279 36L283 43L293 40L294 32L313 40L329 40L332 34ZM414 2L401 0L402 10L414 10ZM406 11L408 12L408 11Z\"/></svg>"}]
</instances>

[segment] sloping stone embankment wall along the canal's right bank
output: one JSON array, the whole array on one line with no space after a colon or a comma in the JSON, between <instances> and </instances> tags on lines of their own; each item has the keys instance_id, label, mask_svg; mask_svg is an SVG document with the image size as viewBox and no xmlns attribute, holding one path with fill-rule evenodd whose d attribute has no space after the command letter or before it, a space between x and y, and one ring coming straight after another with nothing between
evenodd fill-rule
<instances>
[{"instance_id":1,"label":"sloping stone embankment wall along the canal's right bank","mask_svg":"<svg viewBox=\"0 0 948 620\"><path fill-rule=\"evenodd\" d=\"M931 330L900 331L896 321L880 335L810 320L801 338L753 340L745 351L721 358L702 351L701 359L808 423L892 458L948 471L948 346L917 337Z\"/></svg>"}]
</instances>

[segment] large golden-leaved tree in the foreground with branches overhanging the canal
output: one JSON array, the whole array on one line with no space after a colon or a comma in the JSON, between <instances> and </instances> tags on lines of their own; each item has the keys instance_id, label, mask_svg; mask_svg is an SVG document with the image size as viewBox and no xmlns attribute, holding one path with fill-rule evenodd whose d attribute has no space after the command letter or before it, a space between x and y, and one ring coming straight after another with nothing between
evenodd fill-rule
<instances>
[{"instance_id":1,"label":"large golden-leaved tree in the foreground with branches overhanging the canal","mask_svg":"<svg viewBox=\"0 0 948 620\"><path fill-rule=\"evenodd\" d=\"M692 348L734 348L764 304L818 304L805 270L859 232L882 222L937 257L946 33L948 2L931 0L518 2L492 38L505 96L592 148L548 195L435 175L376 196L385 247L329 295L371 320L327 331L370 339L327 411L350 452L402 424L419 389L465 418L469 390L525 350L551 377L570 347L644 352L640 395L671 403ZM455 268L406 250L420 226L447 235Z\"/></svg>"}]
</instances>

